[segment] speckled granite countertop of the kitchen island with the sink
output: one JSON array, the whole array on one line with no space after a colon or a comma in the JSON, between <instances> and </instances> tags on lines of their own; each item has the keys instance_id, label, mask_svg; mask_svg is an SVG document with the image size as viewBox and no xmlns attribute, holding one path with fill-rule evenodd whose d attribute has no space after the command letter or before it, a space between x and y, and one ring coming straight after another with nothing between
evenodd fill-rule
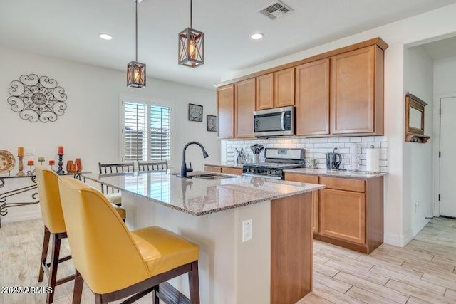
<instances>
[{"instance_id":1,"label":"speckled granite countertop of the kitchen island with the sink","mask_svg":"<svg viewBox=\"0 0 456 304\"><path fill-rule=\"evenodd\" d=\"M195 216L324 188L318 184L237 175L226 179L180 178L165 171L83 177Z\"/></svg>"}]
</instances>

